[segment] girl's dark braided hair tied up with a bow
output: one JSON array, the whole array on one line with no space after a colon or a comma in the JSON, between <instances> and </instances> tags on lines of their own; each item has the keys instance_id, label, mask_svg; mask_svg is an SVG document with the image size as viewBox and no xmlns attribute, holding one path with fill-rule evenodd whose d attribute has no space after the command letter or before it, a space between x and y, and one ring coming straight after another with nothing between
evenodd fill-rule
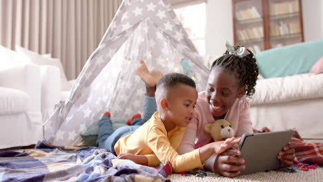
<instances>
[{"instance_id":1,"label":"girl's dark braided hair tied up with a bow","mask_svg":"<svg viewBox=\"0 0 323 182\"><path fill-rule=\"evenodd\" d=\"M233 46L235 50L240 46ZM248 50L248 49L247 49ZM259 74L259 68L253 57L253 52L248 50L250 54L244 57L237 57L234 54L229 54L228 50L222 57L216 59L211 66L211 70L215 67L232 72L239 81L239 86L246 87L246 97L252 97L255 93L255 85Z\"/></svg>"}]
</instances>

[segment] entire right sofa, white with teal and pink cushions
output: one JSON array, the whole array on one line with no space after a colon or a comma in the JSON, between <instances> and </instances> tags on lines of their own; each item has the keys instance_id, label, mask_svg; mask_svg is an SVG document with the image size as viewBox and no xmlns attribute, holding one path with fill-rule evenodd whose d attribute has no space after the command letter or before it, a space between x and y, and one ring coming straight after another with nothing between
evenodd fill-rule
<instances>
[{"instance_id":1,"label":"entire right sofa, white with teal and pink cushions","mask_svg":"<svg viewBox=\"0 0 323 182\"><path fill-rule=\"evenodd\" d=\"M295 128L304 139L323 139L323 40L255 54L263 79L250 100L253 127Z\"/></svg>"}]
</instances>

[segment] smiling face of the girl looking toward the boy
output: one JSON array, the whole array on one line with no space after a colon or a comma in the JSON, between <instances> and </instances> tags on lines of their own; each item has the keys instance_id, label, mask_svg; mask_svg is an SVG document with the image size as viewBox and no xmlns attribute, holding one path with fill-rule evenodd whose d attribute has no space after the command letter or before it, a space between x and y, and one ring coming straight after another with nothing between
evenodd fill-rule
<instances>
[{"instance_id":1,"label":"smiling face of the girl looking toward the boy","mask_svg":"<svg viewBox=\"0 0 323 182\"><path fill-rule=\"evenodd\" d=\"M245 87L239 87L239 81L233 73L214 67L206 85L208 108L214 119L224 117L235 99L244 96L244 92Z\"/></svg>"}]
</instances>

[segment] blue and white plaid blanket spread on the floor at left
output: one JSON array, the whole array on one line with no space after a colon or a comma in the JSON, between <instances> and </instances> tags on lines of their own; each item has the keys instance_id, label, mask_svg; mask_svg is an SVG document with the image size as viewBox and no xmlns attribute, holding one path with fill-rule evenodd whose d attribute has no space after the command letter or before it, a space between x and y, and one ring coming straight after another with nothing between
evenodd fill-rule
<instances>
[{"instance_id":1,"label":"blue and white plaid blanket spread on the floor at left","mask_svg":"<svg viewBox=\"0 0 323 182\"><path fill-rule=\"evenodd\" d=\"M155 168L99 148L0 152L0 181L166 181Z\"/></svg>"}]
</instances>

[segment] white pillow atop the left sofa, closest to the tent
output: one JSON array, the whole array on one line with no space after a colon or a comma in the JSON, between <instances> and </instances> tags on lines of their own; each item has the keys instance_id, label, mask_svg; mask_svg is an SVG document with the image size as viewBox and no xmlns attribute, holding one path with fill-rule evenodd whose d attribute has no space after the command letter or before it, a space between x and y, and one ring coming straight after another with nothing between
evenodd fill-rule
<instances>
[{"instance_id":1,"label":"white pillow atop the left sofa, closest to the tent","mask_svg":"<svg viewBox=\"0 0 323 182\"><path fill-rule=\"evenodd\" d=\"M22 48L19 45L16 45L16 50L19 54L26 55L31 59L31 61L37 65L54 65L61 71L61 85L64 85L67 81L66 74L63 70L63 65L61 65L61 61L59 59L52 59L48 56L43 56L40 54L37 54L36 52L32 52L30 50L27 50L25 48ZM46 54L45 54L46 55Z\"/></svg>"}]
</instances>

